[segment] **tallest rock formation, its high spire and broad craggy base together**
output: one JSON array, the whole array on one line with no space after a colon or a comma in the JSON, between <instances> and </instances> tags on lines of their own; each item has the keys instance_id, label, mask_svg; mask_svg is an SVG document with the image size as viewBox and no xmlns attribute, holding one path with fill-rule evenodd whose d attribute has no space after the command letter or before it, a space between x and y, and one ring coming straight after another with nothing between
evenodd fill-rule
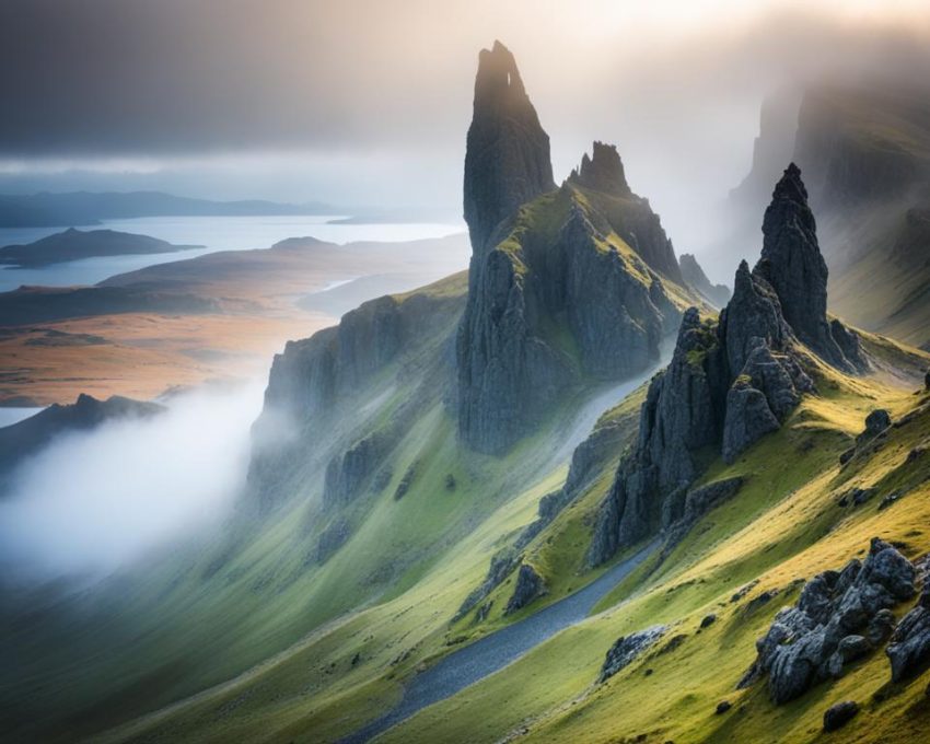
<instances>
[{"instance_id":1,"label":"tallest rock formation, its high spire and broad craggy base together","mask_svg":"<svg viewBox=\"0 0 930 744\"><path fill-rule=\"evenodd\" d=\"M557 191L548 156L496 44L481 53L468 130L473 256L456 346L460 433L480 452L505 451L582 380L643 370L679 316L663 283L681 282L672 244L616 149L595 142Z\"/></svg>"}]
</instances>

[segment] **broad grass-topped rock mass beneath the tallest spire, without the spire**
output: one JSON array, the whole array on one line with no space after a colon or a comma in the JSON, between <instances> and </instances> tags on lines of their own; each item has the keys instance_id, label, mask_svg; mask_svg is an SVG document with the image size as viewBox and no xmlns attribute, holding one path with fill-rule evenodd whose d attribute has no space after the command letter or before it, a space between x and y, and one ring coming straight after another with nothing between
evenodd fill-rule
<instances>
[{"instance_id":1,"label":"broad grass-topped rock mass beneath the tallest spire, without the spire","mask_svg":"<svg viewBox=\"0 0 930 744\"><path fill-rule=\"evenodd\" d=\"M524 207L469 279L458 426L481 452L505 451L584 380L646 369L678 318L663 279L571 185Z\"/></svg>"}]
</instances>

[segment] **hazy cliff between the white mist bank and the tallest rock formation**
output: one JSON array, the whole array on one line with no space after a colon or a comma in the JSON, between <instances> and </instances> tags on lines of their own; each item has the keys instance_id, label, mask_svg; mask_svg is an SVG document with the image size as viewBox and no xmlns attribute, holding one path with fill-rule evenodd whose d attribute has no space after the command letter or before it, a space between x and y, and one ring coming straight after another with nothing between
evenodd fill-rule
<instances>
[{"instance_id":1,"label":"hazy cliff between the white mist bank and the tallest rock formation","mask_svg":"<svg viewBox=\"0 0 930 744\"><path fill-rule=\"evenodd\" d=\"M315 464L325 469L326 507L356 498L384 466L402 430L426 405L449 395L451 335L462 314L464 275L407 295L387 295L347 313L338 326L289 341L271 365L265 407L253 427L249 484L263 508L287 492L290 479ZM416 359L419 384L371 423L364 406L393 390L379 382L392 364ZM398 374L399 369L398 369Z\"/></svg>"}]
</instances>

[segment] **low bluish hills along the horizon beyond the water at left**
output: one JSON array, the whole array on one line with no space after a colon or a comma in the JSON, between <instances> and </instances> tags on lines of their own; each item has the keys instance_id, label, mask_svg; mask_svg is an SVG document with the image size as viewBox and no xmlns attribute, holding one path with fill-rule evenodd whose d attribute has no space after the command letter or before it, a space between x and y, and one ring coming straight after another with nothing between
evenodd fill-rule
<instances>
[{"instance_id":1,"label":"low bluish hills along the horizon beyond the water at left","mask_svg":"<svg viewBox=\"0 0 930 744\"><path fill-rule=\"evenodd\" d=\"M251 217L344 212L345 209L340 210L322 201L301 205L260 199L211 201L161 191L0 195L0 228L70 226L137 217Z\"/></svg>"}]
</instances>

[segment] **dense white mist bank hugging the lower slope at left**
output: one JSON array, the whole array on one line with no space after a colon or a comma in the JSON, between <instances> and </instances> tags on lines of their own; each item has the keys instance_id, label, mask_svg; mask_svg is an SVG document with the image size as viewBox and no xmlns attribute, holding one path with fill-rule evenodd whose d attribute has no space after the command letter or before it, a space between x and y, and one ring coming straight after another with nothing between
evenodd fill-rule
<instances>
[{"instance_id":1,"label":"dense white mist bank hugging the lower slope at left","mask_svg":"<svg viewBox=\"0 0 930 744\"><path fill-rule=\"evenodd\" d=\"M245 480L263 388L195 390L163 414L54 440L0 501L0 572L102 578L219 524Z\"/></svg>"}]
</instances>

